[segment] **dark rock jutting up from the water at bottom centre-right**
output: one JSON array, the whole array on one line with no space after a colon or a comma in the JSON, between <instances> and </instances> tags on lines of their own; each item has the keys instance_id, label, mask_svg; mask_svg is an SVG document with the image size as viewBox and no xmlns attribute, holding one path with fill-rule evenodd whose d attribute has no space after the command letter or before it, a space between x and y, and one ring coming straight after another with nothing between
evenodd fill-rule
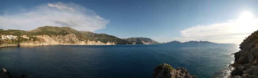
<instances>
[{"instance_id":1,"label":"dark rock jutting up from the water at bottom centre-right","mask_svg":"<svg viewBox=\"0 0 258 78\"><path fill-rule=\"evenodd\" d=\"M159 64L154 68L155 71L152 78L198 78L197 76L191 76L189 72L184 68L173 69L168 64Z\"/></svg>"}]
</instances>

